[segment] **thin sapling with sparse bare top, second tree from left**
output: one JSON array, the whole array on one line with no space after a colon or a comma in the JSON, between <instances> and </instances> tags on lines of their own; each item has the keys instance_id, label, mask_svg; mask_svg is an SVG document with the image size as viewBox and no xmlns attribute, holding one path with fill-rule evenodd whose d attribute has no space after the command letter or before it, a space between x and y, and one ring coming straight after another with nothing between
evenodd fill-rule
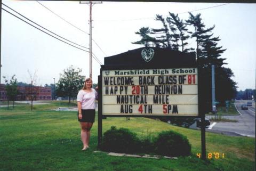
<instances>
[{"instance_id":1,"label":"thin sapling with sparse bare top, second tree from left","mask_svg":"<svg viewBox=\"0 0 256 171\"><path fill-rule=\"evenodd\" d=\"M31 101L31 111L33 110L33 101L36 100L36 95L38 94L38 89L36 88L36 75L37 70L32 75L28 70L28 74L30 77L30 84L26 86L26 96L27 99Z\"/></svg>"}]
</instances>

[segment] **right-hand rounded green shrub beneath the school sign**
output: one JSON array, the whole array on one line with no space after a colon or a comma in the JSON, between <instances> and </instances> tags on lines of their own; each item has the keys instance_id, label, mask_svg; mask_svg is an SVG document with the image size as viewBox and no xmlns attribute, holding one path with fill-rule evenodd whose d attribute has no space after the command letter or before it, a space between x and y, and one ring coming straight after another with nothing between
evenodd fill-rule
<instances>
[{"instance_id":1,"label":"right-hand rounded green shrub beneath the school sign","mask_svg":"<svg viewBox=\"0 0 256 171\"><path fill-rule=\"evenodd\" d=\"M189 156L191 144L186 136L173 131L163 131L154 142L157 154L163 156Z\"/></svg>"}]
</instances>

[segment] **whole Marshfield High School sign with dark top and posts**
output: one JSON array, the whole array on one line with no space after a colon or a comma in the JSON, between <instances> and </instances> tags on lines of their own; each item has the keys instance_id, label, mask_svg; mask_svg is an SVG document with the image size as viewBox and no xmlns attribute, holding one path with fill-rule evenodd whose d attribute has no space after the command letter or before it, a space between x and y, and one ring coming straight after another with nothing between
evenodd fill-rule
<instances>
[{"instance_id":1,"label":"whole Marshfield High School sign with dark top and posts","mask_svg":"<svg viewBox=\"0 0 256 171\"><path fill-rule=\"evenodd\" d=\"M206 105L194 53L142 47L109 56L98 83L99 145L107 117L201 117L204 122ZM205 156L204 127L202 145Z\"/></svg>"}]
</instances>

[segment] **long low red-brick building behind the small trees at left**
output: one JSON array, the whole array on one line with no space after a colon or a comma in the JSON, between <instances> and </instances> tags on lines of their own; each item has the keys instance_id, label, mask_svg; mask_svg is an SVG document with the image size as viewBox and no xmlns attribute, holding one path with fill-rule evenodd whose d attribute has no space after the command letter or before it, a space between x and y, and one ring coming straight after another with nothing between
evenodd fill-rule
<instances>
[{"instance_id":1,"label":"long low red-brick building behind the small trees at left","mask_svg":"<svg viewBox=\"0 0 256 171\"><path fill-rule=\"evenodd\" d=\"M31 92L36 95L35 100L52 100L52 88L51 87L23 87L18 86L18 95L16 100L29 100L29 95ZM1 84L1 100L7 100L7 93L5 90L5 85Z\"/></svg>"}]
</instances>

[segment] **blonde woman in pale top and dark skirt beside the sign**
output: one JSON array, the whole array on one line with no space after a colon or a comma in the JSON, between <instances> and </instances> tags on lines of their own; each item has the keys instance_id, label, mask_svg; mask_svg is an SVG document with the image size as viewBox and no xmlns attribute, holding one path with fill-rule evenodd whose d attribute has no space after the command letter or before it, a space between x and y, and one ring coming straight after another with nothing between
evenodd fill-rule
<instances>
[{"instance_id":1,"label":"blonde woman in pale top and dark skirt beside the sign","mask_svg":"<svg viewBox=\"0 0 256 171\"><path fill-rule=\"evenodd\" d=\"M98 97L95 89L92 88L92 79L85 78L84 87L77 94L77 117L81 125L81 140L84 145L82 150L89 148L90 130L95 119L95 99Z\"/></svg>"}]
</instances>

